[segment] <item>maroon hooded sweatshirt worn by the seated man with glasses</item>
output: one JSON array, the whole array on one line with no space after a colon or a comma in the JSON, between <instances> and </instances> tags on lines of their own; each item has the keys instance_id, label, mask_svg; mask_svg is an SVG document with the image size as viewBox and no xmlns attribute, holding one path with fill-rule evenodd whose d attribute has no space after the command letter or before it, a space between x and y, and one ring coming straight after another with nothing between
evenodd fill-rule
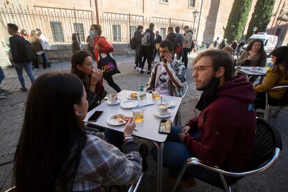
<instances>
[{"instance_id":1,"label":"maroon hooded sweatshirt worn by the seated man with glasses","mask_svg":"<svg viewBox=\"0 0 288 192\"><path fill-rule=\"evenodd\" d=\"M198 129L199 138L186 136L184 143L195 157L209 166L243 171L253 154L256 113L253 84L245 77L228 81L218 88L216 99L186 125Z\"/></svg>"}]
</instances>

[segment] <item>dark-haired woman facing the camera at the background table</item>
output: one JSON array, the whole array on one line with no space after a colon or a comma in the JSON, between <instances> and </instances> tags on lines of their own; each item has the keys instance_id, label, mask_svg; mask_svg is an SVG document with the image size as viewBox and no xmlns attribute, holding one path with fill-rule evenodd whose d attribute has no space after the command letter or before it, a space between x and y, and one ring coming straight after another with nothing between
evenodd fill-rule
<instances>
[{"instance_id":1,"label":"dark-haired woman facing the camera at the background table","mask_svg":"<svg viewBox=\"0 0 288 192\"><path fill-rule=\"evenodd\" d=\"M237 66L249 67L265 67L266 52L264 51L264 43L260 39L251 40L246 50L237 58Z\"/></svg>"}]
</instances>

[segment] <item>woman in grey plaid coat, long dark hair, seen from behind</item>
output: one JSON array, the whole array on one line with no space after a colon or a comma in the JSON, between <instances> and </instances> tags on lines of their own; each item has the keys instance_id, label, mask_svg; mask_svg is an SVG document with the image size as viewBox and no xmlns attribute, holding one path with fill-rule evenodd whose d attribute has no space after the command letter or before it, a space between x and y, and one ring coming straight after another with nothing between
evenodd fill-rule
<instances>
[{"instance_id":1,"label":"woman in grey plaid coat, long dark hair, seen from behind","mask_svg":"<svg viewBox=\"0 0 288 192\"><path fill-rule=\"evenodd\" d=\"M46 73L33 83L15 153L16 191L101 191L141 175L141 157L125 125L122 150L87 135L81 120L88 103L74 74Z\"/></svg>"}]
</instances>

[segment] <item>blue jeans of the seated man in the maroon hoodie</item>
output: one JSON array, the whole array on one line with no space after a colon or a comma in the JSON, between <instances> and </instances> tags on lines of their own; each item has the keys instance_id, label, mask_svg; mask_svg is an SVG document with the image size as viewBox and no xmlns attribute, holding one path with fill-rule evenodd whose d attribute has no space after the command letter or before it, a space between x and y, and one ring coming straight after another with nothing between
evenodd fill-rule
<instances>
[{"instance_id":1,"label":"blue jeans of the seated man in the maroon hoodie","mask_svg":"<svg viewBox=\"0 0 288 192\"><path fill-rule=\"evenodd\" d=\"M181 170L186 159L195 157L195 154L188 150L184 143L179 141L178 134L182 129L182 126L172 127L163 148L163 166L176 173ZM193 131L191 136L196 138L199 137L199 131ZM157 159L156 148L153 149L152 155L154 159ZM211 182L221 182L218 173L213 173L199 166L190 166L187 168L185 177L195 177L198 179L206 179Z\"/></svg>"}]
</instances>

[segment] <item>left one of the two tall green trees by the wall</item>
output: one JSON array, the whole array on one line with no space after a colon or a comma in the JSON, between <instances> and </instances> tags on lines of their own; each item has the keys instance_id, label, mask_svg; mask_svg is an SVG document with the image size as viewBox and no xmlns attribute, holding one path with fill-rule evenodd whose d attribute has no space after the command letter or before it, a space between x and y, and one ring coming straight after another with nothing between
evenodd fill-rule
<instances>
[{"instance_id":1,"label":"left one of the two tall green trees by the wall","mask_svg":"<svg viewBox=\"0 0 288 192\"><path fill-rule=\"evenodd\" d=\"M252 1L253 0L234 0L224 33L224 38L227 38L227 42L241 38Z\"/></svg>"}]
</instances>

